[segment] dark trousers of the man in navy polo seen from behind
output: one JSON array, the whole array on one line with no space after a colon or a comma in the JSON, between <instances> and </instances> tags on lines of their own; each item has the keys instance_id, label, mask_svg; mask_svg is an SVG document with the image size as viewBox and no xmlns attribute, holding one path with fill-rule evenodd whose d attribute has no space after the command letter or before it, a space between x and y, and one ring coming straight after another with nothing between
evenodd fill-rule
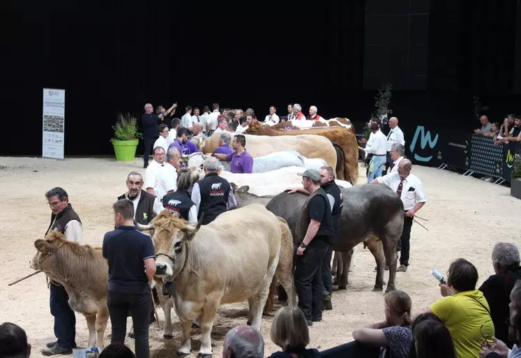
<instances>
[{"instance_id":1,"label":"dark trousers of the man in navy polo seen from behind","mask_svg":"<svg viewBox=\"0 0 521 358\"><path fill-rule=\"evenodd\" d=\"M112 339L110 343L125 343L127 330L127 311L130 310L134 326L135 353L137 358L149 358L149 322L151 310L151 295L128 294L107 291Z\"/></svg>"}]
</instances>

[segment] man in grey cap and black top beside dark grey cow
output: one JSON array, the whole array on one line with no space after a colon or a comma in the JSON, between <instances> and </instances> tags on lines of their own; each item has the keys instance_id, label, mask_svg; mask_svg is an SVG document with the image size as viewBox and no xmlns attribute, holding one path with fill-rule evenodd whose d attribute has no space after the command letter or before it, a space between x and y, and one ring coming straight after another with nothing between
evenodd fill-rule
<instances>
[{"instance_id":1,"label":"man in grey cap and black top beside dark grey cow","mask_svg":"<svg viewBox=\"0 0 521 358\"><path fill-rule=\"evenodd\" d=\"M302 185L310 193L305 202L296 235L303 240L297 248L295 286L299 295L299 308L305 315L308 326L322 320L324 285L322 283L322 262L334 234L331 205L324 189L320 187L320 173L308 169L302 174ZM301 236L301 233L305 234Z\"/></svg>"}]
</instances>

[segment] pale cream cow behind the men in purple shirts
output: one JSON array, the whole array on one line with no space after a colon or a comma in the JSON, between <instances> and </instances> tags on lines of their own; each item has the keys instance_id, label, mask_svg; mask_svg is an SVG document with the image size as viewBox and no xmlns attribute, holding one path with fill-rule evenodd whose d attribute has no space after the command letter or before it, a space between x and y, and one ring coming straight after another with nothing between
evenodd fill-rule
<instances>
[{"instance_id":1,"label":"pale cream cow behind the men in purple shirts","mask_svg":"<svg viewBox=\"0 0 521 358\"><path fill-rule=\"evenodd\" d=\"M246 133L245 137L246 151L248 151L253 158L266 156L278 151L297 151L301 156L305 156L306 158L323 159L327 165L336 167L337 152L335 147L333 147L330 140L320 135L286 135L280 137L269 137L262 135L248 135ZM213 135L206 140L203 152L205 154L213 153L213 151L219 147L219 139L220 134L213 133Z\"/></svg>"}]
</instances>

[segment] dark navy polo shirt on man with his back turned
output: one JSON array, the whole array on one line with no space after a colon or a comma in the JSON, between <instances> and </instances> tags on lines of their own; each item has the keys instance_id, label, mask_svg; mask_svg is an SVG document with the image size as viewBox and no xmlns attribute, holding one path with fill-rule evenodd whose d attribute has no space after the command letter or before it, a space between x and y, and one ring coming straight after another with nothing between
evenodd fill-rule
<instances>
[{"instance_id":1,"label":"dark navy polo shirt on man with his back turned","mask_svg":"<svg viewBox=\"0 0 521 358\"><path fill-rule=\"evenodd\" d=\"M109 263L108 291L149 292L144 260L155 258L152 239L133 226L120 226L103 237L103 257Z\"/></svg>"}]
</instances>

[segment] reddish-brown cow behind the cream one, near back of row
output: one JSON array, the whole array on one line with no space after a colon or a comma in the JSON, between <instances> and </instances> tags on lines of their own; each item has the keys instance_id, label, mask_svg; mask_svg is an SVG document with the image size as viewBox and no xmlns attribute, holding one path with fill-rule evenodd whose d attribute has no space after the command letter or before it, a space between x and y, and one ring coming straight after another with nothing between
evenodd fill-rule
<instances>
[{"instance_id":1,"label":"reddish-brown cow behind the cream one, near back of row","mask_svg":"<svg viewBox=\"0 0 521 358\"><path fill-rule=\"evenodd\" d=\"M259 121L254 120L245 133L250 135L269 135L271 137L278 135L320 135L326 137L341 148L340 153L338 153L340 156L335 170L337 179L349 181L352 185L356 184L358 179L358 142L356 141L356 135L354 135L354 129L324 127L304 130L299 128L283 130L276 129L276 126L262 125Z\"/></svg>"}]
</instances>

